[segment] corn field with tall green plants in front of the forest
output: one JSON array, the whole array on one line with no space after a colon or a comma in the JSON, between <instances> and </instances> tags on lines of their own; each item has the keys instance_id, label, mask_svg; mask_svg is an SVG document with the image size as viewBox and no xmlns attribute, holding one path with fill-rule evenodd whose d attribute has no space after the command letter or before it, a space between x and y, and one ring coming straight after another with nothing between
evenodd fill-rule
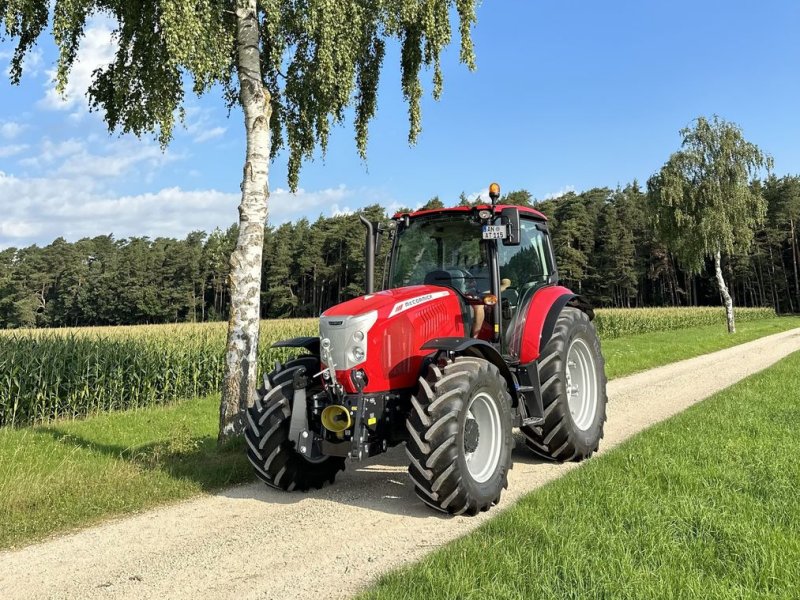
<instances>
[{"instance_id":1,"label":"corn field with tall green plants in front of the forest","mask_svg":"<svg viewBox=\"0 0 800 600\"><path fill-rule=\"evenodd\" d=\"M739 309L739 322L774 317ZM602 338L719 325L721 308L603 309ZM316 335L316 319L264 321L259 364L295 353L275 341ZM222 384L225 323L0 332L0 426L75 418L204 396Z\"/></svg>"}]
</instances>

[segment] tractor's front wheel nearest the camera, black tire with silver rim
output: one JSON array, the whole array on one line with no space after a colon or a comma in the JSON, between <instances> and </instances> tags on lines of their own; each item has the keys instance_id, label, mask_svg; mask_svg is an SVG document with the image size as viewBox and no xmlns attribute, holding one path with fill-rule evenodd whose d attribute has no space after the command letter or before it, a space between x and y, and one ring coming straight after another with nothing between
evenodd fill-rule
<instances>
[{"instance_id":1,"label":"tractor's front wheel nearest the camera, black tire with silver rim","mask_svg":"<svg viewBox=\"0 0 800 600\"><path fill-rule=\"evenodd\" d=\"M408 473L436 510L475 515L500 501L511 468L511 397L496 366L459 357L430 365L406 422Z\"/></svg>"}]
</instances>

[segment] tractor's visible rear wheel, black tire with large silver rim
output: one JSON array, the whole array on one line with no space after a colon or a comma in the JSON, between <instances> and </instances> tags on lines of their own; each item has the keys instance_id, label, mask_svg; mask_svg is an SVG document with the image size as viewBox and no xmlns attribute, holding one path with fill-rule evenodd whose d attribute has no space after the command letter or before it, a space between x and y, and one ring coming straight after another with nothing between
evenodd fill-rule
<instances>
[{"instance_id":1,"label":"tractor's visible rear wheel, black tire with large silver rim","mask_svg":"<svg viewBox=\"0 0 800 600\"><path fill-rule=\"evenodd\" d=\"M586 313L565 307L539 357L545 422L522 427L542 458L580 461L597 452L606 420L605 361Z\"/></svg>"}]
</instances>

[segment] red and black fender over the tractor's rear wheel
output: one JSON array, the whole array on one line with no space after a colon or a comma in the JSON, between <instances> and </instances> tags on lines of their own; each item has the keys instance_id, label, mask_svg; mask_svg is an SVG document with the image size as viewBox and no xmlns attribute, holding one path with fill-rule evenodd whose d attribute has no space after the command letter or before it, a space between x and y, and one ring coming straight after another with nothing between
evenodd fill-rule
<instances>
[{"instance_id":1,"label":"red and black fender over the tractor's rear wheel","mask_svg":"<svg viewBox=\"0 0 800 600\"><path fill-rule=\"evenodd\" d=\"M520 362L529 363L539 358L542 348L553 336L558 316L565 306L572 306L594 319L591 304L582 296L560 285L538 290L528 307L528 318L522 334Z\"/></svg>"}]
</instances>

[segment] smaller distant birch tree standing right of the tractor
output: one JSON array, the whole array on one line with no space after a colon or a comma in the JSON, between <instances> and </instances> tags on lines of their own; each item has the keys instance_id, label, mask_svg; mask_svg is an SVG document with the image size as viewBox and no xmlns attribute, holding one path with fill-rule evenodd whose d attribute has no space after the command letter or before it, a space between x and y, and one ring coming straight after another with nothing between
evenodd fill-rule
<instances>
[{"instance_id":1,"label":"smaller distant birch tree standing right of the tractor","mask_svg":"<svg viewBox=\"0 0 800 600\"><path fill-rule=\"evenodd\" d=\"M744 253L764 220L766 201L750 181L772 159L745 140L734 123L697 118L681 130L681 149L647 182L656 229L681 265L700 273L714 261L717 287L725 304L728 331L736 332L731 299L722 273L722 255Z\"/></svg>"}]
</instances>

